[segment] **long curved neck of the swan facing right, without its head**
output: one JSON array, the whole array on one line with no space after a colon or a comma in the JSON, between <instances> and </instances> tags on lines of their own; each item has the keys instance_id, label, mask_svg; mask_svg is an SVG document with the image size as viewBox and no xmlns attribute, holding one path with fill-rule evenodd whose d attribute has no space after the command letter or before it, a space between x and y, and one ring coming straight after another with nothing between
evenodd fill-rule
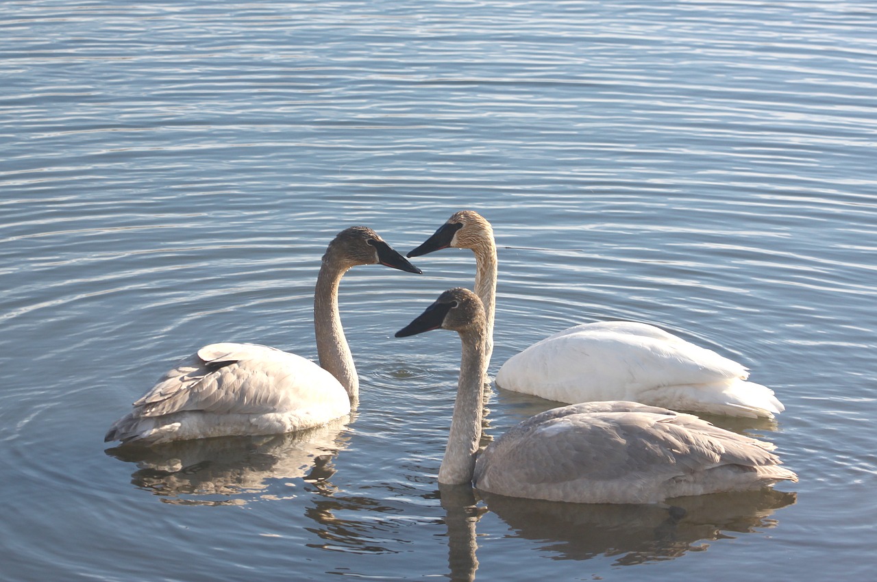
<instances>
[{"instance_id":1,"label":"long curved neck of the swan facing right, without its head","mask_svg":"<svg viewBox=\"0 0 877 582\"><path fill-rule=\"evenodd\" d=\"M355 404L360 397L360 379L338 309L338 287L345 272L346 269L332 266L329 260L323 259L314 290L314 333L320 366L338 379Z\"/></svg>"}]
</instances>

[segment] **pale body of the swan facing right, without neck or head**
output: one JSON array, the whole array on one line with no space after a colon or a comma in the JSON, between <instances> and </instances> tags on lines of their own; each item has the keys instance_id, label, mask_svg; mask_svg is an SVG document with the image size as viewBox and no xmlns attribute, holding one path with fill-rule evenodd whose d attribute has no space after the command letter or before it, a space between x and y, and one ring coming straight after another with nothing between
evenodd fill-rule
<instances>
[{"instance_id":1,"label":"pale body of the swan facing right, without neck or head","mask_svg":"<svg viewBox=\"0 0 877 582\"><path fill-rule=\"evenodd\" d=\"M210 344L165 373L104 440L277 434L349 412L344 387L308 359L265 345Z\"/></svg>"}]
</instances>

